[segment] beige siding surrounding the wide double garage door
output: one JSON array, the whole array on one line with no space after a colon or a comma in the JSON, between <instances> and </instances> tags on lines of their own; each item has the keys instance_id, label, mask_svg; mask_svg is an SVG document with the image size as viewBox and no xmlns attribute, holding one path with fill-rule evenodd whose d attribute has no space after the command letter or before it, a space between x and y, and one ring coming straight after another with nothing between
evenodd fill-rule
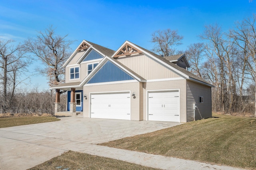
<instances>
[{"instance_id":1,"label":"beige siding surrounding the wide double garage door","mask_svg":"<svg viewBox=\"0 0 256 170\"><path fill-rule=\"evenodd\" d=\"M83 104L83 117L89 117L89 107L90 107L90 96L89 93L111 93L111 92L121 92L130 91L131 92L131 121L140 120L140 97L139 88L140 82L130 82L130 83L114 83L105 85L86 85L84 86L84 94L87 95L87 99L84 99ZM135 98L132 97L132 93L135 93Z\"/></svg>"}]
</instances>

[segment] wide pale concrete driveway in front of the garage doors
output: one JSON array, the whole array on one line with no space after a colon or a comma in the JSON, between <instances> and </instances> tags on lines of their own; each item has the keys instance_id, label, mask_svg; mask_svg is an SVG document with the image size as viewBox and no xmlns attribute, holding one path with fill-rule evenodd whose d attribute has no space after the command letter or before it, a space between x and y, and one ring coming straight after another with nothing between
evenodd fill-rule
<instances>
[{"instance_id":1,"label":"wide pale concrete driveway in front of the garage doors","mask_svg":"<svg viewBox=\"0 0 256 170\"><path fill-rule=\"evenodd\" d=\"M89 152L95 144L179 125L172 122L62 117L61 121L0 128L0 170L27 169L68 150Z\"/></svg>"}]
</instances>

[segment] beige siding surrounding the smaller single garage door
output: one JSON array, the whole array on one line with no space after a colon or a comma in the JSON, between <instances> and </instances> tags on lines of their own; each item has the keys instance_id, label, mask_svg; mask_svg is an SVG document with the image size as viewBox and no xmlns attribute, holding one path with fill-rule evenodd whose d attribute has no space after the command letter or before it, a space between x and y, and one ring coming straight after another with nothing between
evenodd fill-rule
<instances>
[{"instance_id":1,"label":"beige siding surrounding the smaller single garage door","mask_svg":"<svg viewBox=\"0 0 256 170\"><path fill-rule=\"evenodd\" d=\"M180 90L180 122L186 122L186 80L155 81L143 83L143 120L146 120L147 91L154 90Z\"/></svg>"}]
</instances>

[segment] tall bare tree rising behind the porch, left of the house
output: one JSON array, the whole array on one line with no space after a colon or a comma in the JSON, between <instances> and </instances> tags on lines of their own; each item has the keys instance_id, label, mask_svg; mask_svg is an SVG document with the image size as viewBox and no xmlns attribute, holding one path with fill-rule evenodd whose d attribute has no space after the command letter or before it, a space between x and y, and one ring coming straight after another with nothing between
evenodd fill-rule
<instances>
[{"instance_id":1,"label":"tall bare tree rising behind the porch, left of the house","mask_svg":"<svg viewBox=\"0 0 256 170\"><path fill-rule=\"evenodd\" d=\"M64 62L71 55L70 45L74 42L66 40L66 36L56 35L52 26L43 32L39 31L36 39L29 38L25 41L26 50L33 53L46 68L39 68L38 71L47 76L50 86L64 82Z\"/></svg>"}]
</instances>

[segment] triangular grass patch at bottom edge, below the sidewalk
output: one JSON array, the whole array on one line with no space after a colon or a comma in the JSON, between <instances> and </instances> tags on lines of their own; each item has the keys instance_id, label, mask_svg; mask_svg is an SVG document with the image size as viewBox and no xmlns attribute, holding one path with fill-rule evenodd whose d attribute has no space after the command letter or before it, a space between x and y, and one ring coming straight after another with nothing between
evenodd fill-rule
<instances>
[{"instance_id":1,"label":"triangular grass patch at bottom edge, below the sidewalk","mask_svg":"<svg viewBox=\"0 0 256 170\"><path fill-rule=\"evenodd\" d=\"M29 170L158 170L122 160L68 151Z\"/></svg>"}]
</instances>

